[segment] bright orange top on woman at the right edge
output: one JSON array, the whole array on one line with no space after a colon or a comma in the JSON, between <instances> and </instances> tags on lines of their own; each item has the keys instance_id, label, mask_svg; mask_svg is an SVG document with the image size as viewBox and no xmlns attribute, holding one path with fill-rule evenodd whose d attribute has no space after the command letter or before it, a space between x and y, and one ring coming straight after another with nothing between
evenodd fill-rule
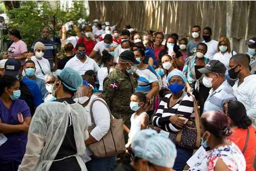
<instances>
[{"instance_id":1,"label":"bright orange top on woman at the right edge","mask_svg":"<svg viewBox=\"0 0 256 171\"><path fill-rule=\"evenodd\" d=\"M250 126L249 127L250 135L248 139L248 145L244 153L245 161L246 161L246 171L254 171L253 162L254 162L254 152L256 146L256 137L255 137L255 129ZM233 134L228 137L230 141L233 141L238 145L241 152L244 149L245 141L246 141L247 129L236 128L233 130Z\"/></svg>"}]
</instances>

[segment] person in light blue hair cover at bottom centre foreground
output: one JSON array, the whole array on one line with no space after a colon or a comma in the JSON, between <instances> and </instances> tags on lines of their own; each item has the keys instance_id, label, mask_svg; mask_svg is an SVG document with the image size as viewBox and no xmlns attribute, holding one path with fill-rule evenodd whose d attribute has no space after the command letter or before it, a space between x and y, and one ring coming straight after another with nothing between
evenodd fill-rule
<instances>
[{"instance_id":1,"label":"person in light blue hair cover at bottom centre foreground","mask_svg":"<svg viewBox=\"0 0 256 171\"><path fill-rule=\"evenodd\" d=\"M132 140L135 158L129 164L120 164L115 171L172 171L177 151L165 134L155 130L139 131Z\"/></svg>"}]
</instances>

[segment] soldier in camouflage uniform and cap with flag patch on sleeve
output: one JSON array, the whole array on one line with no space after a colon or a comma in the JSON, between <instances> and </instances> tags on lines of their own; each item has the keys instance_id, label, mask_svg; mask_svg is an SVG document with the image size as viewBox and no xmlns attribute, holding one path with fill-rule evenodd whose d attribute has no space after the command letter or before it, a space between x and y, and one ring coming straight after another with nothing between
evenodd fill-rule
<instances>
[{"instance_id":1,"label":"soldier in camouflage uniform and cap with flag patch on sleeve","mask_svg":"<svg viewBox=\"0 0 256 171\"><path fill-rule=\"evenodd\" d=\"M103 83L102 97L108 103L115 118L123 118L124 124L130 128L130 97L135 92L137 80L134 77L136 61L132 51L120 54L116 68L110 72Z\"/></svg>"}]
</instances>

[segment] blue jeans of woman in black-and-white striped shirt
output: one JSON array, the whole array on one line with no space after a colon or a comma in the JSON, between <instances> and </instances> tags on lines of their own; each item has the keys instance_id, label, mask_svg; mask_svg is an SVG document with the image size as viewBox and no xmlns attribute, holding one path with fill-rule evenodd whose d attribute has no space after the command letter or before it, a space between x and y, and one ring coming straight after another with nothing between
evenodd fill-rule
<instances>
[{"instance_id":1,"label":"blue jeans of woman in black-and-white striped shirt","mask_svg":"<svg viewBox=\"0 0 256 171\"><path fill-rule=\"evenodd\" d=\"M177 157L173 169L176 171L182 171L186 166L187 160L193 155L193 150L185 149L180 146L176 146L176 150Z\"/></svg>"}]
</instances>

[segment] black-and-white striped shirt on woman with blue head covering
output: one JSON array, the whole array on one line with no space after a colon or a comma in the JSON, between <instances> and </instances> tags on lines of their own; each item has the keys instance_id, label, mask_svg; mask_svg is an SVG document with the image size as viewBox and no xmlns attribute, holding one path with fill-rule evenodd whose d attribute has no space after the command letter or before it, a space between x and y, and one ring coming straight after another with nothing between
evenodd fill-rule
<instances>
[{"instance_id":1,"label":"black-and-white striped shirt on woman with blue head covering","mask_svg":"<svg viewBox=\"0 0 256 171\"><path fill-rule=\"evenodd\" d=\"M193 96L183 92L176 104L169 107L171 97L172 93L167 94L160 102L156 115L153 117L153 125L167 132L178 132L182 128L170 123L169 117L176 114L182 114L187 120L195 117Z\"/></svg>"}]
</instances>

